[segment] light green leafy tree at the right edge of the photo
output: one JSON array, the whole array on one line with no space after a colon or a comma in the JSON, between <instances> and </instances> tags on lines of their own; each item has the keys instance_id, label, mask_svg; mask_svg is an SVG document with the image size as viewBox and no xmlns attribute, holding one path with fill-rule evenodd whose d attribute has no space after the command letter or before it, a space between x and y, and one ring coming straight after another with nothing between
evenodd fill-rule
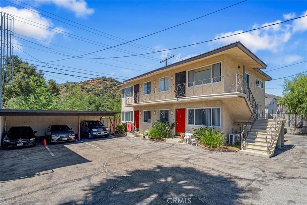
<instances>
[{"instance_id":1,"label":"light green leafy tree at the right edge of the photo","mask_svg":"<svg viewBox=\"0 0 307 205\"><path fill-rule=\"evenodd\" d=\"M285 79L281 102L290 112L307 115L307 75Z\"/></svg>"}]
</instances>

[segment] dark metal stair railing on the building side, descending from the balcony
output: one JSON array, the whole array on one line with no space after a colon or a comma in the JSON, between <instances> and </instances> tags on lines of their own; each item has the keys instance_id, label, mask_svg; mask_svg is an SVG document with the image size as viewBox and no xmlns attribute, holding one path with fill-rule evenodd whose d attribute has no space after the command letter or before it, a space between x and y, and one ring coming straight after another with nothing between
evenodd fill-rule
<instances>
[{"instance_id":1,"label":"dark metal stair railing on the building side, descending from the balcony","mask_svg":"<svg viewBox=\"0 0 307 205\"><path fill-rule=\"evenodd\" d=\"M247 81L245 78L244 78L243 86L244 86L243 91L247 95L248 101L251 102L253 111L252 111L250 119L247 121L247 124L245 125L241 133L241 150L243 150L243 147L245 147L244 145L245 140L248 134L251 132L251 128L253 127L255 121L258 119L258 104L256 103L253 93L251 93L251 89L249 88L249 85L247 84Z\"/></svg>"}]
</instances>

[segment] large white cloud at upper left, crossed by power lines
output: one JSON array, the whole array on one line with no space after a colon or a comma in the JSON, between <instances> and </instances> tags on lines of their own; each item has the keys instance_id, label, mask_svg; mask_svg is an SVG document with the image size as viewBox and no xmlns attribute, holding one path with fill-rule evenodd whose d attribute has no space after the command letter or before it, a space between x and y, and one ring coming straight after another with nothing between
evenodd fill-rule
<instances>
[{"instance_id":1,"label":"large white cloud at upper left, crossed by power lines","mask_svg":"<svg viewBox=\"0 0 307 205\"><path fill-rule=\"evenodd\" d=\"M32 12L27 9L17 9L16 7L13 7L13 6L0 7L0 10L13 15L13 17L15 18L15 21L14 21L14 33L15 34L21 34L21 35L37 38L39 40L48 41L48 42L51 42L52 38L56 35L56 33L50 30L39 28L39 27L46 26L45 28L48 29L47 26L53 27L53 23L52 21L50 21L47 18L42 17L38 13ZM36 11L36 10L33 10L33 11ZM36 23L33 23L33 22L36 22ZM28 23L33 24L35 26L32 26ZM64 28L62 27L55 27L55 29L54 31L59 32L59 33L60 31L65 31Z\"/></svg>"}]
</instances>

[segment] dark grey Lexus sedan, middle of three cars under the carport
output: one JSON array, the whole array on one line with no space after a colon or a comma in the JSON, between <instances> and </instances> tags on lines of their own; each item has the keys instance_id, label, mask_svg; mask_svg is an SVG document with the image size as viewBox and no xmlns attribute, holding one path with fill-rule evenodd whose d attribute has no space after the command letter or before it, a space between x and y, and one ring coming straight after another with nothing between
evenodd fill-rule
<instances>
[{"instance_id":1,"label":"dark grey Lexus sedan, middle of three cars under the carport","mask_svg":"<svg viewBox=\"0 0 307 205\"><path fill-rule=\"evenodd\" d=\"M50 125L45 131L49 143L75 141L75 132L67 125Z\"/></svg>"}]
</instances>

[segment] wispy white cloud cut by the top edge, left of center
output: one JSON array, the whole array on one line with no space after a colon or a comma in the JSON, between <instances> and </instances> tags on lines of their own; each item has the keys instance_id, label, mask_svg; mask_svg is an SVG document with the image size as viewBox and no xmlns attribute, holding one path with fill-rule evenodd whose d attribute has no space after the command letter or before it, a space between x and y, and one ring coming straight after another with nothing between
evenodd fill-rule
<instances>
[{"instance_id":1,"label":"wispy white cloud cut by the top edge, left of center","mask_svg":"<svg viewBox=\"0 0 307 205\"><path fill-rule=\"evenodd\" d=\"M72 11L76 17L85 18L95 12L94 9L87 6L87 2L84 0L45 0L38 1L38 4L52 3L58 8L64 8L68 11Z\"/></svg>"}]
</instances>

